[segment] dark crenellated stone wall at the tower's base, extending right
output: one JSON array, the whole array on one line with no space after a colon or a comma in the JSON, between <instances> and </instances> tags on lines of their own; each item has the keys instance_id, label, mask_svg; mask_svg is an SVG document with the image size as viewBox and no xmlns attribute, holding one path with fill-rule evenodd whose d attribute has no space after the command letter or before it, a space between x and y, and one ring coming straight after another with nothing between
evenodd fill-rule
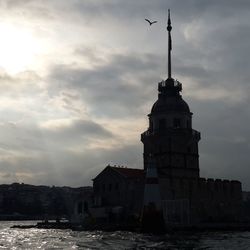
<instances>
[{"instance_id":1,"label":"dark crenellated stone wall at the tower's base, extending right","mask_svg":"<svg viewBox=\"0 0 250 250\"><path fill-rule=\"evenodd\" d=\"M241 220L242 190L239 181L221 179L161 178L162 200L189 200L190 222Z\"/></svg>"}]
</instances>

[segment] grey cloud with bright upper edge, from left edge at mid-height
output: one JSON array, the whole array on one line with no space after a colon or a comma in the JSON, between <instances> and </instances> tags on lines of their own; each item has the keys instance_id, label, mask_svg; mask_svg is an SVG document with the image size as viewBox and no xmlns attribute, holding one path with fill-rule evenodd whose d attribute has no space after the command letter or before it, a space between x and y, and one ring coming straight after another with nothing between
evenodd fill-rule
<instances>
[{"instance_id":1,"label":"grey cloud with bright upper edge, from left edge at mid-height","mask_svg":"<svg viewBox=\"0 0 250 250\"><path fill-rule=\"evenodd\" d=\"M91 120L52 120L42 126L37 124L3 123L0 128L0 148L6 152L20 152L29 155L29 151L43 153L47 151L62 152L67 147L78 146L88 140L114 138L115 135L100 124ZM12 153L11 153L12 154ZM15 155L15 153L13 153Z\"/></svg>"}]
</instances>

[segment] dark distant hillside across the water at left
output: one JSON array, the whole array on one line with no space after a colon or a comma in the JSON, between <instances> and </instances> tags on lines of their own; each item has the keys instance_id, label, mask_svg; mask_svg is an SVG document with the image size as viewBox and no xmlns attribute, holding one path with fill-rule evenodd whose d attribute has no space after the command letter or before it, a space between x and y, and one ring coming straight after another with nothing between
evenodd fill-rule
<instances>
[{"instance_id":1,"label":"dark distant hillside across the water at left","mask_svg":"<svg viewBox=\"0 0 250 250\"><path fill-rule=\"evenodd\" d=\"M92 187L0 185L0 220L67 218L75 200L86 193L92 193Z\"/></svg>"}]
</instances>

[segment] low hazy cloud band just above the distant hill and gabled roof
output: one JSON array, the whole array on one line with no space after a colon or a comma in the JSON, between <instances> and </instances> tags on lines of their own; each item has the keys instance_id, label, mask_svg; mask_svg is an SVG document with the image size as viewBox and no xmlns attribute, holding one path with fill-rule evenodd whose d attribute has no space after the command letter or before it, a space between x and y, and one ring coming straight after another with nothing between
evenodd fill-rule
<instances>
[{"instance_id":1,"label":"low hazy cloud band just above the distant hill and gabled roof","mask_svg":"<svg viewBox=\"0 0 250 250\"><path fill-rule=\"evenodd\" d=\"M88 149L79 154L51 151L17 160L1 160L1 181L76 187L91 185L91 180L108 164L142 168L141 147L138 145L121 145L112 150Z\"/></svg>"}]
</instances>

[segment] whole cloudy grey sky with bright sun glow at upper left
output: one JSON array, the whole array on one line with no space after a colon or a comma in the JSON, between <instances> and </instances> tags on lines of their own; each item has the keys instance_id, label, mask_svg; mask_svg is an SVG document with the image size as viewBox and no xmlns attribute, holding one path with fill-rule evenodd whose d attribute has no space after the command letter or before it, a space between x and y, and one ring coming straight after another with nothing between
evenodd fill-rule
<instances>
[{"instance_id":1,"label":"whole cloudy grey sky with bright sun glow at upper left","mask_svg":"<svg viewBox=\"0 0 250 250\"><path fill-rule=\"evenodd\" d=\"M250 190L248 0L1 0L1 184L86 186L108 164L143 168L168 8L200 175Z\"/></svg>"}]
</instances>

